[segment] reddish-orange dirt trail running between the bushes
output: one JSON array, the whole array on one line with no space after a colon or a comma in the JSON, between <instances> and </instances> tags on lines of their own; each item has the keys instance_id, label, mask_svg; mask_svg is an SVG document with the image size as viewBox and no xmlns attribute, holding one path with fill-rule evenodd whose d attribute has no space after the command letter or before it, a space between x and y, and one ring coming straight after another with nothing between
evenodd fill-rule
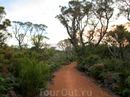
<instances>
[{"instance_id":1,"label":"reddish-orange dirt trail running between the bushes","mask_svg":"<svg viewBox=\"0 0 130 97\"><path fill-rule=\"evenodd\" d=\"M101 88L81 75L73 62L61 68L54 77L54 85L46 92L50 97L116 97L110 96Z\"/></svg>"}]
</instances>

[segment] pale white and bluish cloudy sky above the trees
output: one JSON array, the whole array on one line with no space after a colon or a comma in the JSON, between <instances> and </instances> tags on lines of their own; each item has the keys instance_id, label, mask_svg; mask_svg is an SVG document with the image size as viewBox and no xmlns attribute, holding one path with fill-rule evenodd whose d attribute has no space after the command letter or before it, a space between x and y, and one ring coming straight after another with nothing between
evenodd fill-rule
<instances>
[{"instance_id":1,"label":"pale white and bluish cloudy sky above the trees","mask_svg":"<svg viewBox=\"0 0 130 97\"><path fill-rule=\"evenodd\" d=\"M68 38L64 26L55 18L60 14L59 5L67 6L70 0L0 0L0 6L5 7L6 17L11 21L30 21L36 24L45 24L47 43L56 45L60 40ZM116 24L125 23L127 19L120 18ZM111 24L115 24L111 22ZM10 30L11 31L11 30ZM9 45L16 45L14 38L8 40Z\"/></svg>"}]
</instances>

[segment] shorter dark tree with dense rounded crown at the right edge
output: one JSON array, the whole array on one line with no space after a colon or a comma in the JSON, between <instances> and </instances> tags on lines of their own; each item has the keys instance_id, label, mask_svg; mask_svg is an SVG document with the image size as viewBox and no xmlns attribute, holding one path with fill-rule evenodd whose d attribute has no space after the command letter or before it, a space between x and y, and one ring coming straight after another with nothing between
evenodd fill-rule
<instances>
[{"instance_id":1,"label":"shorter dark tree with dense rounded crown at the right edge","mask_svg":"<svg viewBox=\"0 0 130 97\"><path fill-rule=\"evenodd\" d=\"M118 47L118 53L120 54L121 58L125 60L124 50L126 45L130 43L130 32L128 32L123 25L118 25L116 30L109 31L107 36L109 37L109 44L111 44L111 46ZM115 52L112 52L112 50L110 51L114 55L114 57L119 57Z\"/></svg>"}]
</instances>

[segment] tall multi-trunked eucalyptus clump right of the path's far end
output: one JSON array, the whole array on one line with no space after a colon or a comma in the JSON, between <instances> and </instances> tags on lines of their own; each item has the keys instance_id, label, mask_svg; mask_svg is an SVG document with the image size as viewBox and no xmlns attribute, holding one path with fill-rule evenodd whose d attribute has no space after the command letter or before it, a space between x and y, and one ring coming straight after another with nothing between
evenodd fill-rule
<instances>
[{"instance_id":1,"label":"tall multi-trunked eucalyptus clump right of the path's far end","mask_svg":"<svg viewBox=\"0 0 130 97\"><path fill-rule=\"evenodd\" d=\"M100 29L99 39L95 44L96 48L105 34L107 33L110 19L113 16L114 8L112 0L92 0L90 1L69 1L67 6L61 7L61 14L57 15L61 24L66 28L68 35L70 36L70 42L76 48L79 46L78 38L80 39L80 47L84 47L90 43L94 38L95 30ZM87 39L84 39L85 30L89 29L89 35ZM78 34L79 33L79 34Z\"/></svg>"}]
</instances>

